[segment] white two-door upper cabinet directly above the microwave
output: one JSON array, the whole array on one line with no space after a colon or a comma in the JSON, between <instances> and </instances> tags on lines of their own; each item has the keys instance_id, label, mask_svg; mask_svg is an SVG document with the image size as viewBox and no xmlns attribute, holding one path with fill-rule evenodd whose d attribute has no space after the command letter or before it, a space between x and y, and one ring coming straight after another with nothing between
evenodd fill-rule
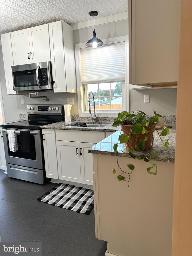
<instances>
[{"instance_id":1,"label":"white two-door upper cabinet directly above the microwave","mask_svg":"<svg viewBox=\"0 0 192 256\"><path fill-rule=\"evenodd\" d=\"M50 61L48 24L11 32L14 65Z\"/></svg>"}]
</instances>

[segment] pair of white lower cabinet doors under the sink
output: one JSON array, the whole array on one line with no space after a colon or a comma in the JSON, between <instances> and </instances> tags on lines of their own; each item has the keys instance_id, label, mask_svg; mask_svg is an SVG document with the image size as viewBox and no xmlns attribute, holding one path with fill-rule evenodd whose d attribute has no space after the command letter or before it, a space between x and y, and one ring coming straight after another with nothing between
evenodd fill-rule
<instances>
[{"instance_id":1,"label":"pair of white lower cabinet doors under the sink","mask_svg":"<svg viewBox=\"0 0 192 256\"><path fill-rule=\"evenodd\" d=\"M88 149L93 143L56 141L58 178L93 185L93 158Z\"/></svg>"}]
</instances>

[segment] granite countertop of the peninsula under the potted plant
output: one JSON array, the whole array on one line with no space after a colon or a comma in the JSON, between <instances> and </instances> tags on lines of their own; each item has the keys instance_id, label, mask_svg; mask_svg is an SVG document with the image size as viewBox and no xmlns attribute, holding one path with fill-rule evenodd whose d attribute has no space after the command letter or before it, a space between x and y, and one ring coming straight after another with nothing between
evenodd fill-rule
<instances>
[{"instance_id":1,"label":"granite countertop of the peninsula under the potted plant","mask_svg":"<svg viewBox=\"0 0 192 256\"><path fill-rule=\"evenodd\" d=\"M154 132L154 151L158 154L159 158L153 157L153 160L163 161L163 162L174 162L175 161L175 139L176 139L176 127L173 125L172 128L169 128L170 133L166 137L161 137L163 141L169 139L169 148L167 149L162 146L162 142L158 136L157 131ZM161 133L161 130L158 130ZM120 134L120 130L116 131L109 137L105 138L101 142L97 143L95 146L92 146L91 149L88 150L89 153L92 154L101 154L101 155L115 155L113 150L113 145L117 143L118 137ZM122 157L130 157L127 152L127 149L124 144L119 145L118 155ZM137 152L138 155L142 155L143 153Z\"/></svg>"}]
</instances>

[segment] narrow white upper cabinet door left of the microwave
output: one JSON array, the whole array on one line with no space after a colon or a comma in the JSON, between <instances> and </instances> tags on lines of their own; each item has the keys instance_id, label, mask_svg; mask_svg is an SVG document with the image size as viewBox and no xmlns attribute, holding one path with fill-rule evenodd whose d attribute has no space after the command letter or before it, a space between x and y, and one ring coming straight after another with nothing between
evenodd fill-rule
<instances>
[{"instance_id":1,"label":"narrow white upper cabinet door left of the microwave","mask_svg":"<svg viewBox=\"0 0 192 256\"><path fill-rule=\"evenodd\" d=\"M10 33L1 35L2 51L3 51L3 62L5 70L5 81L7 86L7 94L16 94L13 89L13 76L11 66L13 66L13 54L11 48L11 37Z\"/></svg>"}]
</instances>

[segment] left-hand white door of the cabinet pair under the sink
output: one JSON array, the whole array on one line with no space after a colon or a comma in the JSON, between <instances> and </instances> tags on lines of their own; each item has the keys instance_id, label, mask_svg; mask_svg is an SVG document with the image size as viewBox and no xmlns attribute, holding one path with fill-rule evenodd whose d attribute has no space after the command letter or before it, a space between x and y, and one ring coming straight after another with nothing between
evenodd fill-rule
<instances>
[{"instance_id":1,"label":"left-hand white door of the cabinet pair under the sink","mask_svg":"<svg viewBox=\"0 0 192 256\"><path fill-rule=\"evenodd\" d=\"M79 143L56 141L59 179L81 183Z\"/></svg>"}]
</instances>

